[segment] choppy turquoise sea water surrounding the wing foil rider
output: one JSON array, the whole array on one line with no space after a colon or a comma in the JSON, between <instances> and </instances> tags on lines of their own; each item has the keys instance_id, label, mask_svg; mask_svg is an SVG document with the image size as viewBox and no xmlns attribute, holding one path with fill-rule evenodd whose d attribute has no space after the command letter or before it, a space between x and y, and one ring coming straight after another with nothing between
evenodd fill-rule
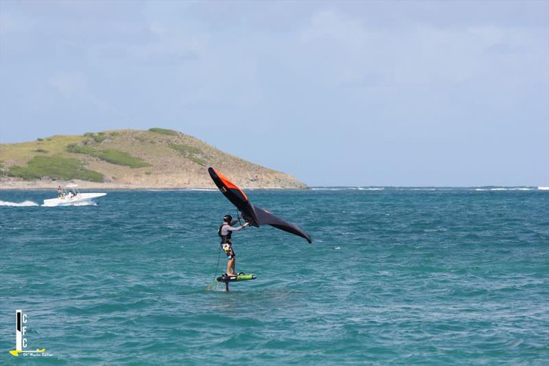
<instances>
[{"instance_id":1,"label":"choppy turquoise sea water surrounding the wing foil rider","mask_svg":"<svg viewBox=\"0 0 549 366\"><path fill-rule=\"evenodd\" d=\"M313 244L235 233L257 279L225 293L205 289L235 211L220 192L0 192L0 363L21 362L20 308L40 364L547 365L549 192L247 193Z\"/></svg>"}]
</instances>

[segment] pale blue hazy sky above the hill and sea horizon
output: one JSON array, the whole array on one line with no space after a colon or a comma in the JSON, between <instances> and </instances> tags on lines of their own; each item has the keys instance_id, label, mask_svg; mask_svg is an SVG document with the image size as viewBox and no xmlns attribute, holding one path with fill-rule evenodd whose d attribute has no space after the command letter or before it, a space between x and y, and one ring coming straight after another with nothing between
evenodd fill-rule
<instances>
[{"instance_id":1,"label":"pale blue hazy sky above the hill and sea horizon","mask_svg":"<svg viewBox=\"0 0 549 366\"><path fill-rule=\"evenodd\" d=\"M549 1L0 1L1 143L152 127L310 186L549 186Z\"/></svg>"}]
</instances>

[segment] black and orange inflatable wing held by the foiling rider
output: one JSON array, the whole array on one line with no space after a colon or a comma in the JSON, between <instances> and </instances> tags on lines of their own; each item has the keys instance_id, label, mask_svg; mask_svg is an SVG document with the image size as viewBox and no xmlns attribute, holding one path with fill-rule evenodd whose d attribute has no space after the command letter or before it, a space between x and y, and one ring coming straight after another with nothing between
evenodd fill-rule
<instances>
[{"instance_id":1,"label":"black and orange inflatable wing held by the foiling rider","mask_svg":"<svg viewBox=\"0 0 549 366\"><path fill-rule=\"evenodd\" d=\"M307 239L307 242L311 243L311 236L301 230L294 224L291 224L288 221L282 220L277 216L274 216L266 209L259 208L248 200L248 196L242 191L235 183L229 181L226 176L221 174L218 170L213 168L208 168L208 172L213 179L213 183L218 186L219 190L224 194L224 196L231 201L233 205L242 213L242 218L247 222L250 222L250 225L259 227L260 225L270 225L287 231L288 233L301 236L301 238Z\"/></svg>"}]
</instances>

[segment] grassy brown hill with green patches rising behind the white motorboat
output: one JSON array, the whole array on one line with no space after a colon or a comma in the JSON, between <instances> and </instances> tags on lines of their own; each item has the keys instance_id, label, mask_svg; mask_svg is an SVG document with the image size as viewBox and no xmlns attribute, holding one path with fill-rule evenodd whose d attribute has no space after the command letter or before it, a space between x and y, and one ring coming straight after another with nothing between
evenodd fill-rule
<instances>
[{"instance_id":1,"label":"grassy brown hill with green patches rising behind the white motorboat","mask_svg":"<svg viewBox=\"0 0 549 366\"><path fill-rule=\"evenodd\" d=\"M174 130L111 130L0 144L0 188L212 188L207 168L243 187L305 188L293 176L226 154Z\"/></svg>"}]
</instances>

